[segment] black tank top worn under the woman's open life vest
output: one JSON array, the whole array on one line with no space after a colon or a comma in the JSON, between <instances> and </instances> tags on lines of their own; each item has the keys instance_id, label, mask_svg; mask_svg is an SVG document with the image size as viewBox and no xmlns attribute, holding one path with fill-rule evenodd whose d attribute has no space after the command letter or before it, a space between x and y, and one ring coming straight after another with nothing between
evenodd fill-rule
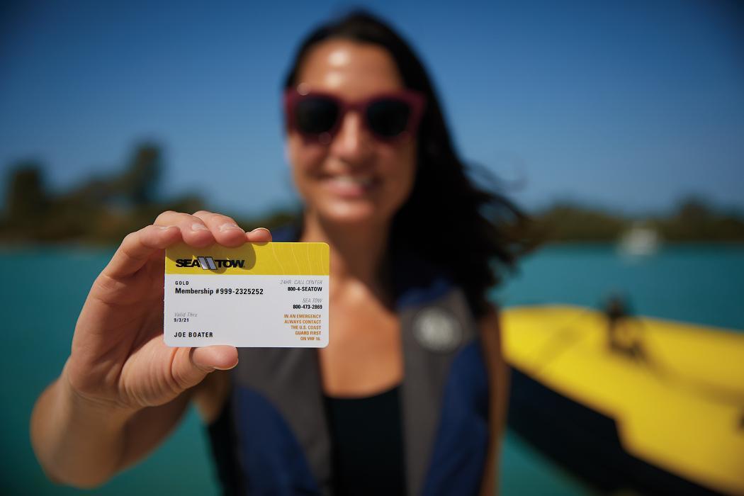
<instances>
[{"instance_id":1,"label":"black tank top worn under the woman's open life vest","mask_svg":"<svg viewBox=\"0 0 744 496\"><path fill-rule=\"evenodd\" d=\"M405 495L400 386L363 398L324 395L333 439L334 495ZM230 400L208 427L223 495L243 494Z\"/></svg>"}]
</instances>

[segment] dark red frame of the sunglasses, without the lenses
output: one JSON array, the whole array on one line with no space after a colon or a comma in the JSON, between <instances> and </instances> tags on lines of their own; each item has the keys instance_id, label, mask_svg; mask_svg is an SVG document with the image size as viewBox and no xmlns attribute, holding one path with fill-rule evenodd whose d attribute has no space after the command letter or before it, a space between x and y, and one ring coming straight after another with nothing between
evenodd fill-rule
<instances>
[{"instance_id":1,"label":"dark red frame of the sunglasses, without the lenses","mask_svg":"<svg viewBox=\"0 0 744 496\"><path fill-rule=\"evenodd\" d=\"M318 134L312 132L303 132L302 129L299 129L299 126L297 125L297 120L295 117L295 106L297 106L297 104L300 103L302 100L316 97L333 100L333 102L335 102L339 106L339 117L336 118L336 123L333 123L333 126L325 132L321 132ZM373 129L371 129L371 126L369 125L367 120L367 109L372 103L379 100L399 100L405 102L406 104L408 104L408 106L411 107L411 115L408 117L408 123L406 123L403 132L400 132L400 134L395 136L383 136L378 135L376 132L374 132ZM326 93L324 91L308 91L307 93L303 94L297 91L295 88L289 88L284 92L284 113L286 115L286 124L288 128L294 129L295 131L300 133L300 135L302 135L303 138L305 138L306 140L316 141L321 144L329 144L330 141L333 140L333 137L336 136L337 132L339 132L341 122L343 122L344 120L344 115L346 115L346 113L350 110L359 112L359 114L362 115L362 125L365 126L365 129L367 129L371 133L371 135L373 135L379 141L399 141L408 136L413 136L416 134L416 131L418 129L425 104L426 97L422 93L409 89L378 93L369 98L365 98L364 100L358 100L355 102L348 102L340 97L337 97L335 94Z\"/></svg>"}]
</instances>

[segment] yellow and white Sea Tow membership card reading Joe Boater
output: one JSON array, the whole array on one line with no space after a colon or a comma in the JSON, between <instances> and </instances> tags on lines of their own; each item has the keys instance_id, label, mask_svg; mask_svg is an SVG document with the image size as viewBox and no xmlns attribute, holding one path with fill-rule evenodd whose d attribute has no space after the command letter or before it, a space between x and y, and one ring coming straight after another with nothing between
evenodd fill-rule
<instances>
[{"instance_id":1,"label":"yellow and white Sea Tow membership card reading Joe Boater","mask_svg":"<svg viewBox=\"0 0 744 496\"><path fill-rule=\"evenodd\" d=\"M165 344L326 347L328 277L325 243L168 248Z\"/></svg>"}]
</instances>

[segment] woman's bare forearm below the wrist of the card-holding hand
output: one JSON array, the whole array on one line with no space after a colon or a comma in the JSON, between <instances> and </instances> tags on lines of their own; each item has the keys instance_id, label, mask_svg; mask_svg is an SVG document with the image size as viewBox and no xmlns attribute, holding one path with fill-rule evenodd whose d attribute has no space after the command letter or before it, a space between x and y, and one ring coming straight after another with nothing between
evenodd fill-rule
<instances>
[{"instance_id":1,"label":"woman's bare forearm below the wrist of the card-holding hand","mask_svg":"<svg viewBox=\"0 0 744 496\"><path fill-rule=\"evenodd\" d=\"M31 414L31 444L51 480L94 487L116 473L126 448L121 408L74 393L65 372L39 396Z\"/></svg>"}]
</instances>

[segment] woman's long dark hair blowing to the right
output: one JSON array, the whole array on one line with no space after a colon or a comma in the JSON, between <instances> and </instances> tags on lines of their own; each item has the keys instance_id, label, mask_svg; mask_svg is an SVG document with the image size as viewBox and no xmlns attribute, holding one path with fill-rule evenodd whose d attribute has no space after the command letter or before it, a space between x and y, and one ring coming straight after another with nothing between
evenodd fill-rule
<instances>
[{"instance_id":1,"label":"woman's long dark hair blowing to the right","mask_svg":"<svg viewBox=\"0 0 744 496\"><path fill-rule=\"evenodd\" d=\"M321 25L298 49L284 88L295 86L310 49L327 39L349 39L385 48L406 88L426 96L417 135L417 173L411 196L396 213L389 248L405 246L443 268L464 289L480 317L487 312L487 291L513 267L529 243L523 238L527 216L504 196L478 187L466 175L444 121L432 81L414 51L376 16L355 10Z\"/></svg>"}]
</instances>

